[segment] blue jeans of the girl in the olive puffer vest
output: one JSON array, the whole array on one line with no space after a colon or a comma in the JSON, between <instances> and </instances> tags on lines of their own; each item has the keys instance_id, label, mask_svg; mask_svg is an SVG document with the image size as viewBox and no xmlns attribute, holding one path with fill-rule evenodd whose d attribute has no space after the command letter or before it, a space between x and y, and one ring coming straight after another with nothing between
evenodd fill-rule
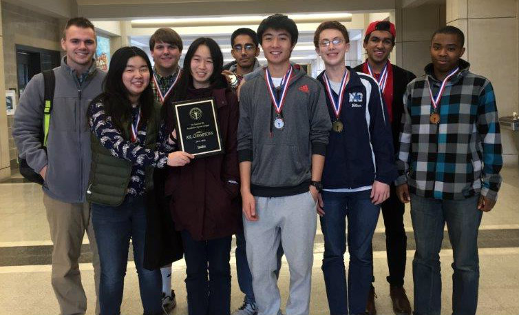
<instances>
[{"instance_id":1,"label":"blue jeans of the girl in the olive puffer vest","mask_svg":"<svg viewBox=\"0 0 519 315\"><path fill-rule=\"evenodd\" d=\"M159 270L146 270L144 263L146 206L144 196L126 196L118 207L92 203L92 223L97 238L101 276L101 315L120 314L128 261L129 240L139 278L140 299L145 314L161 314L162 281Z\"/></svg>"}]
</instances>

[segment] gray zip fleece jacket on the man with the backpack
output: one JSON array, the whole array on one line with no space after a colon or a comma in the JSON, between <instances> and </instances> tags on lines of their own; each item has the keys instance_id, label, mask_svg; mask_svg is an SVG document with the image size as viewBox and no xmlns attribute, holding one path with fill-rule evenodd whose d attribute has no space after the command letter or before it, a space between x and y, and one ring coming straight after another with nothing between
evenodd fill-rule
<instances>
[{"instance_id":1,"label":"gray zip fleece jacket on the man with the backpack","mask_svg":"<svg viewBox=\"0 0 519 315\"><path fill-rule=\"evenodd\" d=\"M47 152L40 142L43 119L43 74L36 74L23 91L14 114L12 136L19 155L35 172L47 165L43 191L65 203L85 201L90 172L90 130L87 108L102 92L105 72L93 65L83 83L65 57L54 68L56 88L50 113Z\"/></svg>"}]
</instances>

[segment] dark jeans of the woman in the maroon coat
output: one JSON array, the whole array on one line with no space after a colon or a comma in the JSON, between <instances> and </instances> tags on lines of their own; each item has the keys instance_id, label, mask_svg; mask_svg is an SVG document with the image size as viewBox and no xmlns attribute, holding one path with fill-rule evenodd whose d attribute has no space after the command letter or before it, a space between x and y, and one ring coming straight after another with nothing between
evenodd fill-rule
<instances>
[{"instance_id":1,"label":"dark jeans of the woman in the maroon coat","mask_svg":"<svg viewBox=\"0 0 519 315\"><path fill-rule=\"evenodd\" d=\"M231 236L195 241L184 230L182 243L189 315L231 314Z\"/></svg>"}]
</instances>

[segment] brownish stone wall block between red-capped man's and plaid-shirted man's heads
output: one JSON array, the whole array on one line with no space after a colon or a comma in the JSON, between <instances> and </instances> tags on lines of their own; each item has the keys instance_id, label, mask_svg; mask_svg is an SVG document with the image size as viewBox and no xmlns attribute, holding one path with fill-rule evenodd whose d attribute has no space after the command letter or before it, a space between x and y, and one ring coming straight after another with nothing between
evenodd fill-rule
<instances>
[{"instance_id":1,"label":"brownish stone wall block between red-capped man's and plaid-shirted man's heads","mask_svg":"<svg viewBox=\"0 0 519 315\"><path fill-rule=\"evenodd\" d=\"M440 26L440 6L406 8L402 12L403 41L429 41Z\"/></svg>"}]
</instances>

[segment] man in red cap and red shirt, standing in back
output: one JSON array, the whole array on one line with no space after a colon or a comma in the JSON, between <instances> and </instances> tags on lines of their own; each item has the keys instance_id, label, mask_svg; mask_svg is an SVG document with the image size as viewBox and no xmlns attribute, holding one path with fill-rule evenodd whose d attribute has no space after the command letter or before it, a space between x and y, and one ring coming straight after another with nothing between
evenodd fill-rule
<instances>
[{"instance_id":1,"label":"man in red cap and red shirt, standing in back","mask_svg":"<svg viewBox=\"0 0 519 315\"><path fill-rule=\"evenodd\" d=\"M407 83L415 76L389 61L389 55L394 47L396 30L390 21L374 21L366 30L363 47L368 53L368 59L354 68L357 72L370 74L378 82L390 119L394 152L399 152L399 132L403 112L403 94ZM385 246L388 254L390 296L393 310L396 314L411 314L409 299L403 288L405 274L405 250L407 237L403 227L404 205L396 196L394 185L390 185L390 196L382 203L382 216L385 225ZM374 278L373 278L374 281ZM377 314L374 305L374 287L368 296L366 312Z\"/></svg>"}]
</instances>

